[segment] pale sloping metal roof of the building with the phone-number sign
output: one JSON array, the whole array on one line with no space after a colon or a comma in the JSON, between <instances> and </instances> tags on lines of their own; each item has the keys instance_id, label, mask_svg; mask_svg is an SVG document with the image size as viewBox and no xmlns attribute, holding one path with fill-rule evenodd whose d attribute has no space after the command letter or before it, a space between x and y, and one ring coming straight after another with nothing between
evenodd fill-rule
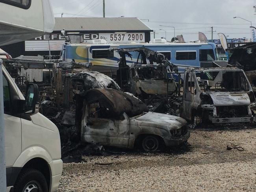
<instances>
[{"instance_id":1,"label":"pale sloping metal roof of the building with the phone-number sign","mask_svg":"<svg viewBox=\"0 0 256 192\"><path fill-rule=\"evenodd\" d=\"M135 17L55 18L54 31L153 31Z\"/></svg>"}]
</instances>

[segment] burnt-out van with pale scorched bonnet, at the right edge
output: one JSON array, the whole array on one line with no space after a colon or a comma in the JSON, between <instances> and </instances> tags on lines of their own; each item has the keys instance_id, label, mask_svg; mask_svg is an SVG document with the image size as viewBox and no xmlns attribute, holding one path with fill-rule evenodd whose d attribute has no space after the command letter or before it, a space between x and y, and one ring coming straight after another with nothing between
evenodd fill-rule
<instances>
[{"instance_id":1,"label":"burnt-out van with pale scorched bonnet, at the right edge","mask_svg":"<svg viewBox=\"0 0 256 192\"><path fill-rule=\"evenodd\" d=\"M255 122L255 96L236 67L185 70L181 116L212 123Z\"/></svg>"}]
</instances>

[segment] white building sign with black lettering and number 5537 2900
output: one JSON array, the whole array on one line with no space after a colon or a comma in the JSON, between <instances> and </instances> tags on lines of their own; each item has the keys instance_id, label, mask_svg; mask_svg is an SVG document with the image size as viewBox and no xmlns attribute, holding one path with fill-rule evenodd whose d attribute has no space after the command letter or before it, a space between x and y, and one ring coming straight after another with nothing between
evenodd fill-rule
<instances>
[{"instance_id":1,"label":"white building sign with black lettering and number 5537 2900","mask_svg":"<svg viewBox=\"0 0 256 192\"><path fill-rule=\"evenodd\" d=\"M145 42L145 33L82 33L85 43L104 39L108 43ZM25 41L25 51L60 51L65 38L61 34L48 34Z\"/></svg>"}]
</instances>

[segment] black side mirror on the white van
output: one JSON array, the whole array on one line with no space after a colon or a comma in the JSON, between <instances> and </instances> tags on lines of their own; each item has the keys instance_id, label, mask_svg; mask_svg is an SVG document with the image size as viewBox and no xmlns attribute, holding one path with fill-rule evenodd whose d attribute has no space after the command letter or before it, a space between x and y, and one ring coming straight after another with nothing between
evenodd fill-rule
<instances>
[{"instance_id":1,"label":"black side mirror on the white van","mask_svg":"<svg viewBox=\"0 0 256 192\"><path fill-rule=\"evenodd\" d=\"M36 84L30 83L26 87L25 114L35 114L39 112L39 90Z\"/></svg>"}]
</instances>

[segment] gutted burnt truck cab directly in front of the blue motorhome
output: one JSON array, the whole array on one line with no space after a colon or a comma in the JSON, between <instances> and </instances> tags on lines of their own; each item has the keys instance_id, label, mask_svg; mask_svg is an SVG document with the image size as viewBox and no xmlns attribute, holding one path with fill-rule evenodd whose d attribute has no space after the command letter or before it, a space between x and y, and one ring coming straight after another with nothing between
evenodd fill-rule
<instances>
[{"instance_id":1,"label":"gutted burnt truck cab directly in front of the blue motorhome","mask_svg":"<svg viewBox=\"0 0 256 192\"><path fill-rule=\"evenodd\" d=\"M178 68L165 55L144 46L116 51L120 55L116 80L122 90L140 98L176 92L177 87L171 72L178 72ZM133 57L137 56L134 63L128 60L128 57L132 59L132 54Z\"/></svg>"}]
</instances>

